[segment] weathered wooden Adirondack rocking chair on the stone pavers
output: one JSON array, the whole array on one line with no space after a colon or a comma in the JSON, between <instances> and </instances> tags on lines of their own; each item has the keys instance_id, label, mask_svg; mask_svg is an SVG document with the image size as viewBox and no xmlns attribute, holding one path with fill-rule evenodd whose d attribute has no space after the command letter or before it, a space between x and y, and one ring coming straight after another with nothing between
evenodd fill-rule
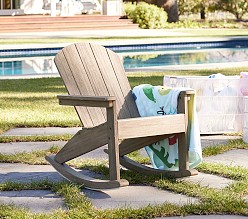
<instances>
[{"instance_id":1,"label":"weathered wooden Adirondack rocking chair on the stone pavers","mask_svg":"<svg viewBox=\"0 0 248 219\"><path fill-rule=\"evenodd\" d=\"M59 95L61 105L74 106L83 124L47 161L65 178L94 189L128 185L120 179L120 164L145 174L184 177L197 174L189 169L187 149L187 103L192 91L181 92L178 113L140 117L123 64L117 54L100 45L76 43L63 48L55 64L69 95ZM165 171L139 164L126 155L178 133L179 170ZM108 144L109 180L91 178L66 164L67 161Z\"/></svg>"}]
</instances>

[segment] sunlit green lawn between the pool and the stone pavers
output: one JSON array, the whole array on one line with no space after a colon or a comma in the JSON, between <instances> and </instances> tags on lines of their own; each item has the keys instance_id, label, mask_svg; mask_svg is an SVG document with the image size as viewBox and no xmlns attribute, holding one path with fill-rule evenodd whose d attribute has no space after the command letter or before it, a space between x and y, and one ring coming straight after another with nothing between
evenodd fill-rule
<instances>
[{"instance_id":1,"label":"sunlit green lawn between the pool and the stone pavers","mask_svg":"<svg viewBox=\"0 0 248 219\"><path fill-rule=\"evenodd\" d=\"M142 83L162 85L164 75L210 75L216 72L236 75L246 70L228 68L135 73L129 74L128 78L134 87ZM65 93L60 78L0 80L0 133L14 127L80 126L74 108L58 104L57 95Z\"/></svg>"}]
</instances>

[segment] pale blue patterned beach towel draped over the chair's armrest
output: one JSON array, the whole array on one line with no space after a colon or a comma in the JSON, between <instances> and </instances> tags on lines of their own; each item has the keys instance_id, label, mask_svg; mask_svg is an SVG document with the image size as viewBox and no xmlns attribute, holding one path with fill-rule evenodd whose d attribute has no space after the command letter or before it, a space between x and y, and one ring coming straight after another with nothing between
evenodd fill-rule
<instances>
[{"instance_id":1,"label":"pale blue patterned beach towel draped over the chair's armrest","mask_svg":"<svg viewBox=\"0 0 248 219\"><path fill-rule=\"evenodd\" d=\"M133 88L133 96L140 116L163 116L177 113L178 95L183 90L186 89L142 84ZM188 111L188 155L191 169L202 161L200 131L194 95L190 98ZM178 170L178 140L176 135L148 145L145 149L154 168Z\"/></svg>"}]
</instances>

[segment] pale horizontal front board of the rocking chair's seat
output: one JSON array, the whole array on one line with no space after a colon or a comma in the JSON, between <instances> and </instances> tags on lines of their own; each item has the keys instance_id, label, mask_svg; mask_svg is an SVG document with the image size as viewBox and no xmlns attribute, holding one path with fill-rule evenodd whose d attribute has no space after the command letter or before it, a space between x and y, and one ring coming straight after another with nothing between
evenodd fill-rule
<instances>
[{"instance_id":1,"label":"pale horizontal front board of the rocking chair's seat","mask_svg":"<svg viewBox=\"0 0 248 219\"><path fill-rule=\"evenodd\" d=\"M118 120L119 139L185 132L184 114Z\"/></svg>"}]
</instances>

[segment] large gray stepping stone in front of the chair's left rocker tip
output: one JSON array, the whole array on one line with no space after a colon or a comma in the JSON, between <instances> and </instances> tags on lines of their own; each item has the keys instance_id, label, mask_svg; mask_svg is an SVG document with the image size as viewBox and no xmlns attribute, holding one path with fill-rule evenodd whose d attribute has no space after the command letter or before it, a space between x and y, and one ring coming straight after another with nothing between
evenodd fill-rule
<instances>
[{"instance_id":1,"label":"large gray stepping stone in front of the chair's left rocker tip","mask_svg":"<svg viewBox=\"0 0 248 219\"><path fill-rule=\"evenodd\" d=\"M99 209L140 208L165 202L179 205L197 202L196 198L144 185L130 185L101 191L84 189L82 192Z\"/></svg>"}]
</instances>

